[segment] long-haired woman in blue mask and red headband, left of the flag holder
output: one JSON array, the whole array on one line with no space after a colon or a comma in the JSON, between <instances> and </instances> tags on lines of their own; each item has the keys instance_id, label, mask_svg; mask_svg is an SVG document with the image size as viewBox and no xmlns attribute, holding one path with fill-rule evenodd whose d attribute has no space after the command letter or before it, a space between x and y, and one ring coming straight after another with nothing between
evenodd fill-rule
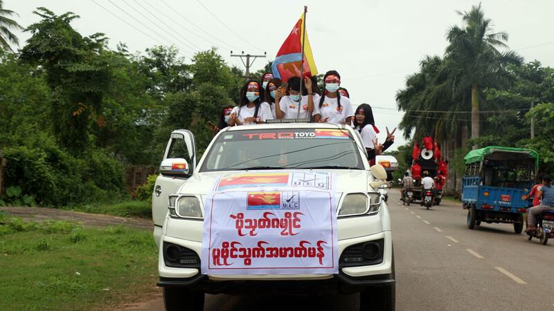
<instances>
[{"instance_id":1,"label":"long-haired woman in blue mask and red headband, left of the flag holder","mask_svg":"<svg viewBox=\"0 0 554 311\"><path fill-rule=\"evenodd\" d=\"M272 119L268 104L260 103L261 86L254 80L249 80L240 90L240 103L233 108L229 118L229 126L264 123Z\"/></svg>"}]
</instances>

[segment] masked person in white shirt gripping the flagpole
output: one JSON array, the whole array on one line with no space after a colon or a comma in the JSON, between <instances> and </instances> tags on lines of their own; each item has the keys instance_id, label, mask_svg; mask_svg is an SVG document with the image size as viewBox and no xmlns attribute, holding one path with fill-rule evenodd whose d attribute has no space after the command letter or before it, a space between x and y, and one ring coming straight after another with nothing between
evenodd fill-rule
<instances>
[{"instance_id":1,"label":"masked person in white shirt gripping the flagpole","mask_svg":"<svg viewBox=\"0 0 554 311\"><path fill-rule=\"evenodd\" d=\"M310 119L314 111L314 103L319 100L319 95L312 90L312 79L304 79L305 96L300 95L300 77L291 77L287 82L289 84L288 93L285 95L285 89L278 88L275 91L275 115L278 119ZM300 112L298 113L298 105Z\"/></svg>"}]
</instances>

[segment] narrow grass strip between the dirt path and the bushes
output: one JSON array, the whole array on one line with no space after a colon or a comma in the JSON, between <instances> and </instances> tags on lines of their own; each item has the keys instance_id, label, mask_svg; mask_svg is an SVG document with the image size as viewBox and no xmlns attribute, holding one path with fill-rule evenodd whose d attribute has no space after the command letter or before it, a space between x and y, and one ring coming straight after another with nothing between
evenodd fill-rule
<instances>
[{"instance_id":1,"label":"narrow grass strip between the dirt path and the bushes","mask_svg":"<svg viewBox=\"0 0 554 311\"><path fill-rule=\"evenodd\" d=\"M71 211L84 211L91 214L107 214L122 217L152 219L152 203L146 200L127 200L117 203L92 203L62 207Z\"/></svg>"}]
</instances>

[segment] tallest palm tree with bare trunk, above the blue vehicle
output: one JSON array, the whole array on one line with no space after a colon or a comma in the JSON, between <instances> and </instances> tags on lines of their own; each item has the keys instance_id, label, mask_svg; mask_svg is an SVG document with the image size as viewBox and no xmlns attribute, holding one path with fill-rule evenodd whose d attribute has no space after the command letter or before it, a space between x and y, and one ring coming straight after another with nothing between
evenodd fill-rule
<instances>
[{"instance_id":1,"label":"tallest palm tree with bare trunk, above the blue vehicle","mask_svg":"<svg viewBox=\"0 0 554 311\"><path fill-rule=\"evenodd\" d=\"M449 46L446 50L445 75L452 82L454 94L471 90L472 138L479 138L479 109L481 91L486 87L506 88L511 77L508 64L520 65L523 58L508 48L508 34L494 32L491 19L486 19L479 6L469 12L458 12L465 28L452 26L447 32ZM476 146L474 146L476 148Z\"/></svg>"}]
</instances>

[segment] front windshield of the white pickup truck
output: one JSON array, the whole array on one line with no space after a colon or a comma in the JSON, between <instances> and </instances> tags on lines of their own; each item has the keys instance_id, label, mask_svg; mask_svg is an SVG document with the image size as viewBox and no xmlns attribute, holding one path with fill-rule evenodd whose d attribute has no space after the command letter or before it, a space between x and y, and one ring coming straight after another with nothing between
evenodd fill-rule
<instances>
[{"instance_id":1,"label":"front windshield of the white pickup truck","mask_svg":"<svg viewBox=\"0 0 554 311\"><path fill-rule=\"evenodd\" d=\"M364 169L350 134L341 129L260 129L222 133L200 171Z\"/></svg>"}]
</instances>

